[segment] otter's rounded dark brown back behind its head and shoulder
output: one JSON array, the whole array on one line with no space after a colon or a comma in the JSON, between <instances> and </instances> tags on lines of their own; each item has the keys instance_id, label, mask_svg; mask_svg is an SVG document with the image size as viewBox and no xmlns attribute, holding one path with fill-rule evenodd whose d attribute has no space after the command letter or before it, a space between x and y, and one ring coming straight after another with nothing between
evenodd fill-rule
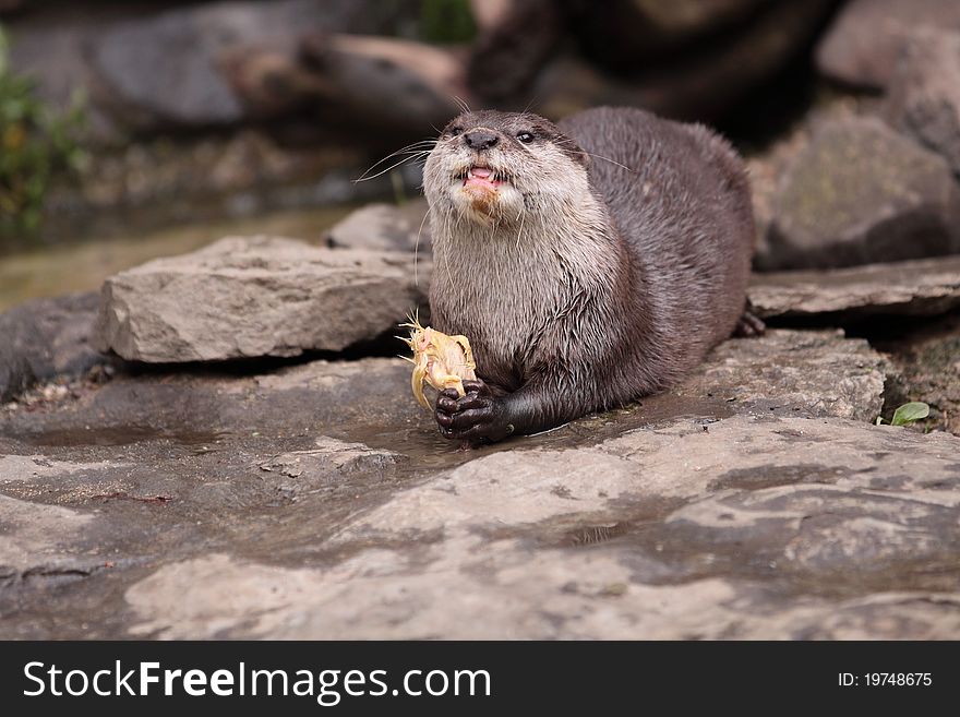
<instances>
[{"instance_id":1,"label":"otter's rounded dark brown back behind its head and shoulder","mask_svg":"<svg viewBox=\"0 0 960 717\"><path fill-rule=\"evenodd\" d=\"M591 184L632 249L660 323L693 344L677 350L701 354L730 336L755 231L733 148L703 126L633 108L591 109L559 127L592 155Z\"/></svg>"}]
</instances>

